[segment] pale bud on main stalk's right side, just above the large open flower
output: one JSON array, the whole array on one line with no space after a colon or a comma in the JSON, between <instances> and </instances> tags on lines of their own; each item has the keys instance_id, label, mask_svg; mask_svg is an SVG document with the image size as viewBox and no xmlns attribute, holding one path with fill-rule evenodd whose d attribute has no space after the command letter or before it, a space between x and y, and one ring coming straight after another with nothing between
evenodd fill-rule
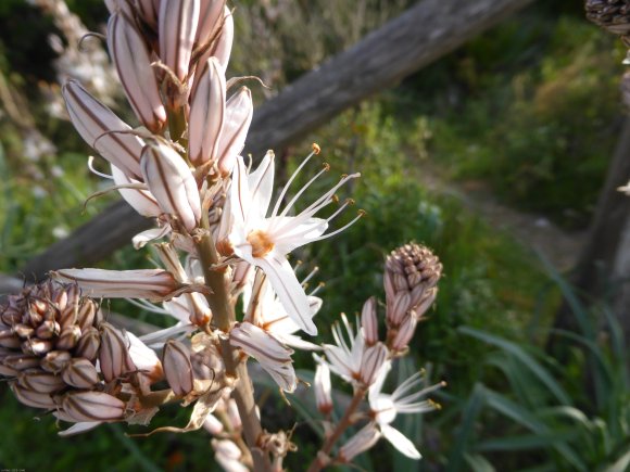
<instances>
[{"instance_id":1,"label":"pale bud on main stalk's right side, just above the large open flower","mask_svg":"<svg viewBox=\"0 0 630 472\"><path fill-rule=\"evenodd\" d=\"M226 103L223 130L218 141L218 168L223 175L231 173L236 158L244 146L253 111L252 93L247 87L242 87Z\"/></svg>"}]
</instances>

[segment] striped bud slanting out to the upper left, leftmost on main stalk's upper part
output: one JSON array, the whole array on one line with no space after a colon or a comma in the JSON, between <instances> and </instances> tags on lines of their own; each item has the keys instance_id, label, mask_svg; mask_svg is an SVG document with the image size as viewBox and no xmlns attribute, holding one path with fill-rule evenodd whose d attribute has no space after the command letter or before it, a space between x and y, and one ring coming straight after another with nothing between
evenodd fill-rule
<instances>
[{"instance_id":1,"label":"striped bud slanting out to the upper left, leftmost on main stalk's upper part","mask_svg":"<svg viewBox=\"0 0 630 472\"><path fill-rule=\"evenodd\" d=\"M62 88L70 118L81 138L129 177L140 177L143 142L110 109L76 80Z\"/></svg>"}]
</instances>

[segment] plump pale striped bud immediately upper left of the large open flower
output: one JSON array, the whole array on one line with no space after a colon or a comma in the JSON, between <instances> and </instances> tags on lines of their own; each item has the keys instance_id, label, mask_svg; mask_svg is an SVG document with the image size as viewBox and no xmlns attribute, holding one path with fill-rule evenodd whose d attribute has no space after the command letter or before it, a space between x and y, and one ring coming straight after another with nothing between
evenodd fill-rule
<instances>
[{"instance_id":1,"label":"plump pale striped bud immediately upper left of the large open flower","mask_svg":"<svg viewBox=\"0 0 630 472\"><path fill-rule=\"evenodd\" d=\"M187 231L201 219L201 201L197 182L188 165L174 149L153 142L142 150L141 169L144 182L162 212L169 215Z\"/></svg>"}]
</instances>

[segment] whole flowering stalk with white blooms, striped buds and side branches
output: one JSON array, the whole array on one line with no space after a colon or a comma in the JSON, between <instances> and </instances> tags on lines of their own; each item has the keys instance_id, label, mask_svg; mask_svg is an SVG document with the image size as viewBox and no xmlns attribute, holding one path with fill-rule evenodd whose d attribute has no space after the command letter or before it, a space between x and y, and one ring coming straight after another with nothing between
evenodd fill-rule
<instances>
[{"instance_id":1,"label":"whole flowering stalk with white blooms, striped buds and side branches","mask_svg":"<svg viewBox=\"0 0 630 472\"><path fill-rule=\"evenodd\" d=\"M273 151L255 169L241 155L253 104L245 87L229 94L238 80L225 77L234 24L224 2L108 0L108 44L141 126L124 123L77 81L65 84L63 93L79 135L111 164L111 176L97 174L155 219L156 228L134 243L153 244L163 268L60 269L50 273L52 281L10 297L0 305L0 374L23 404L75 423L62 434L102 422L146 425L167 403L192 405L185 428L153 432L204 426L216 436L211 444L226 469L270 472L280 471L297 446L292 432L263 430L248 363L257 361L285 395L299 383L294 349L319 352L315 391L326 435L310 470L349 462L380 437L419 458L391 423L398 413L433 409L419 400L431 388L413 392L418 375L392 394L381 388L436 299L437 257L411 244L388 258L385 340L376 297L364 304L354 328L342 315L335 344L302 339L300 330L317 334L322 299L318 289L306 290L314 272L300 280L287 257L363 216L335 228L351 204L340 204L337 193L360 174L343 175L304 203L330 169L324 164L304 186L293 186L320 152L313 144L273 202ZM174 324L137 337L103 322L97 303L84 295L127 298ZM336 423L330 372L354 392ZM156 382L168 387L155 390ZM362 430L338 447L360 422Z\"/></svg>"}]
</instances>

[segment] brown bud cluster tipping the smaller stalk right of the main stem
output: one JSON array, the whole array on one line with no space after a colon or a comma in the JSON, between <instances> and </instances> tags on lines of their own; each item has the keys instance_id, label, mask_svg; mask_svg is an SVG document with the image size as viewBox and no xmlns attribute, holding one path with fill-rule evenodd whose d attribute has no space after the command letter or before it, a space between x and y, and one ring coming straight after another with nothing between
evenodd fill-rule
<instances>
[{"instance_id":1,"label":"brown bud cluster tipping the smaller stalk right of the main stem","mask_svg":"<svg viewBox=\"0 0 630 472\"><path fill-rule=\"evenodd\" d=\"M438 294L442 264L431 250L405 244L388 256L385 271L388 347L394 353L408 345L419 318Z\"/></svg>"}]
</instances>

